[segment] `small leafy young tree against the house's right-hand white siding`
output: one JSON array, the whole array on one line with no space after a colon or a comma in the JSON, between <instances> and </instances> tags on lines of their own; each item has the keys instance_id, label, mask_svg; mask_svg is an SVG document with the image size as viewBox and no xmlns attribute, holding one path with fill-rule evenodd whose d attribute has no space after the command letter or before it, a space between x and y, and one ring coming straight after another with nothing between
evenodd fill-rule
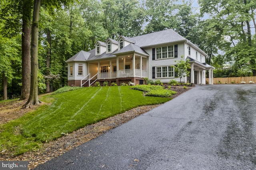
<instances>
[{"instance_id":1,"label":"small leafy young tree against the house's right-hand white siding","mask_svg":"<svg viewBox=\"0 0 256 170\"><path fill-rule=\"evenodd\" d=\"M174 66L174 70L177 73L177 77L180 77L180 83L181 83L181 78L186 77L189 75L190 71L188 69L191 69L190 63L188 63L189 59L186 59L186 61L183 60L183 55L181 56L182 59L177 62L177 64Z\"/></svg>"}]
</instances>

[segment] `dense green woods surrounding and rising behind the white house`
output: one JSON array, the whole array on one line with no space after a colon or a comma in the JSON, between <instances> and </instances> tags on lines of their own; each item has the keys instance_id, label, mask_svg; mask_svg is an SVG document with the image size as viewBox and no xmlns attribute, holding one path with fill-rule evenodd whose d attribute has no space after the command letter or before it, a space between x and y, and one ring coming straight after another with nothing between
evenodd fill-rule
<instances>
[{"instance_id":1,"label":"dense green woods surrounding and rising behind the white house","mask_svg":"<svg viewBox=\"0 0 256 170\"><path fill-rule=\"evenodd\" d=\"M96 41L168 28L208 54L214 77L256 76L255 0L198 0L198 7L189 0L43 0L35 23L37 1L0 2L0 99L4 89L9 99L29 90L30 60L24 56L34 45L33 24L38 27L40 93L67 85L65 61L94 49Z\"/></svg>"}]
</instances>

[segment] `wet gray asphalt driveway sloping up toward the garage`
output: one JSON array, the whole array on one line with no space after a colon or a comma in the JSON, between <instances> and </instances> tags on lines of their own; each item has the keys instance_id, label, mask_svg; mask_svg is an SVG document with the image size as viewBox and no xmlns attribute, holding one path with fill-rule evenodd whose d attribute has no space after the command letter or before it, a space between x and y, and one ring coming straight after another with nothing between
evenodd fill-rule
<instances>
[{"instance_id":1,"label":"wet gray asphalt driveway sloping up toward the garage","mask_svg":"<svg viewBox=\"0 0 256 170\"><path fill-rule=\"evenodd\" d=\"M256 169L256 84L196 85L35 169Z\"/></svg>"}]
</instances>

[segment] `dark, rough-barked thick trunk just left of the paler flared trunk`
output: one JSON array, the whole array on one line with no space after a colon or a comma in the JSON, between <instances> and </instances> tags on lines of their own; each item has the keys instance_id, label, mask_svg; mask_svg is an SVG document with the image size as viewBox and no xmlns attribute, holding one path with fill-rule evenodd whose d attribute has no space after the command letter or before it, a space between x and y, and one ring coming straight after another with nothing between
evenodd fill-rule
<instances>
[{"instance_id":1,"label":"dark, rough-barked thick trunk just left of the paler flared trunk","mask_svg":"<svg viewBox=\"0 0 256 170\"><path fill-rule=\"evenodd\" d=\"M20 100L28 99L30 93L30 17L31 6L26 1L22 16L22 87Z\"/></svg>"}]
</instances>

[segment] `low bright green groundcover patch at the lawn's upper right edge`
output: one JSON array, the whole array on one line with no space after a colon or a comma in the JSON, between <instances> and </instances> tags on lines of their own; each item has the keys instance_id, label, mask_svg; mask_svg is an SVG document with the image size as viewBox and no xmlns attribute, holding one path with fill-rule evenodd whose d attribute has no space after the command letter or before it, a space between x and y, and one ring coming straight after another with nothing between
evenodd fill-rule
<instances>
[{"instance_id":1,"label":"low bright green groundcover patch at the lawn's upper right edge","mask_svg":"<svg viewBox=\"0 0 256 170\"><path fill-rule=\"evenodd\" d=\"M136 85L132 87L134 90L139 91L146 91L146 96L153 96L153 97L172 97L172 95L176 94L176 91L172 91L169 89L164 89L164 87L159 85Z\"/></svg>"}]
</instances>

